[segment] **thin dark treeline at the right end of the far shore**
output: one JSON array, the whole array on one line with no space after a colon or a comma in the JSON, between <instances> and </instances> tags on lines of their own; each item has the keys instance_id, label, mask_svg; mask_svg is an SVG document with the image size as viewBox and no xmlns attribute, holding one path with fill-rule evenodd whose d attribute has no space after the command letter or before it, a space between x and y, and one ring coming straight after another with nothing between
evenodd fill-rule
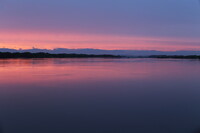
<instances>
[{"instance_id":1,"label":"thin dark treeline at the right end of the far shore","mask_svg":"<svg viewBox=\"0 0 200 133\"><path fill-rule=\"evenodd\" d=\"M200 55L151 55L149 58L200 59Z\"/></svg>"}]
</instances>

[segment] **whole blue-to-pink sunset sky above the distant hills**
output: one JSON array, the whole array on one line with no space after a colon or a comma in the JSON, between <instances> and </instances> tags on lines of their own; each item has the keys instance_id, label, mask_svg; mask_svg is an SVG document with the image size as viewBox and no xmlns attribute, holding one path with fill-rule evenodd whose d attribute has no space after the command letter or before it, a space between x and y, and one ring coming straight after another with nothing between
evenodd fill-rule
<instances>
[{"instance_id":1,"label":"whole blue-to-pink sunset sky above the distant hills","mask_svg":"<svg viewBox=\"0 0 200 133\"><path fill-rule=\"evenodd\" d=\"M200 50L198 0L0 0L0 48Z\"/></svg>"}]
</instances>

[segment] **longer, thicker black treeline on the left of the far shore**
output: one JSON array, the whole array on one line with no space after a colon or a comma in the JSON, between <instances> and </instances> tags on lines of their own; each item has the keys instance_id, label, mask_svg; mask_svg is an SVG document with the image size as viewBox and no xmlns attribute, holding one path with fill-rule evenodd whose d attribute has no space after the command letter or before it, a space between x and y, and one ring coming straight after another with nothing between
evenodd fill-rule
<instances>
[{"instance_id":1,"label":"longer, thicker black treeline on the left of the far shore","mask_svg":"<svg viewBox=\"0 0 200 133\"><path fill-rule=\"evenodd\" d=\"M10 53L0 52L0 58L121 58L115 55L91 54L50 54L50 53Z\"/></svg>"}]
</instances>

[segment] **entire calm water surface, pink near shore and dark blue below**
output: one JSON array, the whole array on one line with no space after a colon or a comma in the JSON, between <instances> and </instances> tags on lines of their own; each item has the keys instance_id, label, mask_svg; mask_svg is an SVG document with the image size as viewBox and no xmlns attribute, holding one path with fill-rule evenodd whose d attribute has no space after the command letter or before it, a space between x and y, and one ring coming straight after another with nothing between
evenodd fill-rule
<instances>
[{"instance_id":1,"label":"entire calm water surface, pink near shore and dark blue below","mask_svg":"<svg viewBox=\"0 0 200 133\"><path fill-rule=\"evenodd\" d=\"M0 60L0 130L199 133L200 61Z\"/></svg>"}]
</instances>

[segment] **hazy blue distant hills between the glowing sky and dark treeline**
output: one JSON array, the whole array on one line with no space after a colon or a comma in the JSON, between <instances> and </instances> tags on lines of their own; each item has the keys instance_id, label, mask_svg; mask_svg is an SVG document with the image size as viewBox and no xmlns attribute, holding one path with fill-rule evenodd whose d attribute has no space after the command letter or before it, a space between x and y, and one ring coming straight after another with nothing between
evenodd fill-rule
<instances>
[{"instance_id":1,"label":"hazy blue distant hills between the glowing sky and dark treeline","mask_svg":"<svg viewBox=\"0 0 200 133\"><path fill-rule=\"evenodd\" d=\"M7 49L0 48L0 52L30 52L30 53L50 53L50 54L93 54L93 55L125 55L125 56L150 56L150 55L200 55L200 51L156 51L156 50L102 50L102 49Z\"/></svg>"}]
</instances>

